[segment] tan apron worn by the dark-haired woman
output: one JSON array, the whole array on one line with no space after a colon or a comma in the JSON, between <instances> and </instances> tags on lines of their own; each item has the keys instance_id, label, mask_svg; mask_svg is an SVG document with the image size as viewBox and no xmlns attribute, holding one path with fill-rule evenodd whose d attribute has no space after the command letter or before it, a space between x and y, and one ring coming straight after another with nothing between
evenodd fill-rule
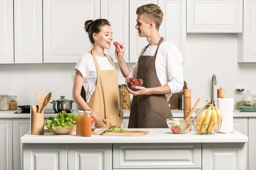
<instances>
[{"instance_id":1,"label":"tan apron worn by the dark-haired woman","mask_svg":"<svg viewBox=\"0 0 256 170\"><path fill-rule=\"evenodd\" d=\"M96 128L109 128L113 125L116 125L116 128L120 128L122 124L119 122L119 94L118 94L118 79L117 71L114 64L113 70L100 70L97 59L91 50L93 61L96 66L97 71L97 84L93 94L90 97L90 102L88 106L95 112L97 115L102 116L107 120L107 123L102 125L95 126ZM105 54L104 54L105 55ZM107 55L105 55L108 57Z\"/></svg>"}]
</instances>

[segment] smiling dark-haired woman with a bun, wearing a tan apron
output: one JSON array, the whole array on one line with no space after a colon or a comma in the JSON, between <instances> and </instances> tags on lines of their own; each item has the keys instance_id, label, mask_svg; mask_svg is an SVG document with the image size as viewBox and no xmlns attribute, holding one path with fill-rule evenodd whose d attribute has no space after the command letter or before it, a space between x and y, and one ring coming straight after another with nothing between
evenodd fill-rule
<instances>
[{"instance_id":1,"label":"smiling dark-haired woman with a bun, wearing a tan apron","mask_svg":"<svg viewBox=\"0 0 256 170\"><path fill-rule=\"evenodd\" d=\"M117 71L113 59L104 54L113 40L110 23L105 19L87 20L84 29L93 48L76 63L73 99L83 111L93 111L96 128L120 128L123 111L119 106ZM82 85L87 103L80 95Z\"/></svg>"}]
</instances>

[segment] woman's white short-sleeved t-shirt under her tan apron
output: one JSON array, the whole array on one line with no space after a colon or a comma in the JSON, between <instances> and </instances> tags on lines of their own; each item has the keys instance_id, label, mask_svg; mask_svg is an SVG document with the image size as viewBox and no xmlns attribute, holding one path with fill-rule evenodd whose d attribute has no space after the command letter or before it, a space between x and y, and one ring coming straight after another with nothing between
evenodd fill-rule
<instances>
[{"instance_id":1,"label":"woman's white short-sleeved t-shirt under her tan apron","mask_svg":"<svg viewBox=\"0 0 256 170\"><path fill-rule=\"evenodd\" d=\"M112 63L114 60L108 56ZM109 62L108 57L96 56L100 70L114 70L113 65ZM97 71L93 61L92 54L86 53L82 55L76 63L75 70L79 70L84 78L84 90L86 92L86 102L90 101L97 84Z\"/></svg>"}]
</instances>

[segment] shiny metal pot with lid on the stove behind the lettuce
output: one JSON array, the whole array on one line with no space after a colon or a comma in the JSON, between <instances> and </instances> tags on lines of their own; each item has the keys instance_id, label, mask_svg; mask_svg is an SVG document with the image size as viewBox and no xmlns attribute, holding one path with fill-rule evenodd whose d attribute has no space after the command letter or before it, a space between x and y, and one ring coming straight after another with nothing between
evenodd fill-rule
<instances>
[{"instance_id":1,"label":"shiny metal pot with lid on the stove behind the lettuce","mask_svg":"<svg viewBox=\"0 0 256 170\"><path fill-rule=\"evenodd\" d=\"M72 110L72 103L74 103L74 101L65 99L64 97L65 96L61 96L60 99L52 100L52 102L50 102L53 104L52 108L55 112L70 112Z\"/></svg>"}]
</instances>

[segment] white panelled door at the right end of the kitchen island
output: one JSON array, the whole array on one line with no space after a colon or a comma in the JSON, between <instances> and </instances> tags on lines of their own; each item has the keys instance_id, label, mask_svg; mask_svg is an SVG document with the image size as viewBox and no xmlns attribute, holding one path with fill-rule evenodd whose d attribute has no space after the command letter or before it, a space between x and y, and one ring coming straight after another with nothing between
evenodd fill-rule
<instances>
[{"instance_id":1,"label":"white panelled door at the right end of the kitchen island","mask_svg":"<svg viewBox=\"0 0 256 170\"><path fill-rule=\"evenodd\" d=\"M202 170L244 170L245 143L203 143Z\"/></svg>"}]
</instances>

